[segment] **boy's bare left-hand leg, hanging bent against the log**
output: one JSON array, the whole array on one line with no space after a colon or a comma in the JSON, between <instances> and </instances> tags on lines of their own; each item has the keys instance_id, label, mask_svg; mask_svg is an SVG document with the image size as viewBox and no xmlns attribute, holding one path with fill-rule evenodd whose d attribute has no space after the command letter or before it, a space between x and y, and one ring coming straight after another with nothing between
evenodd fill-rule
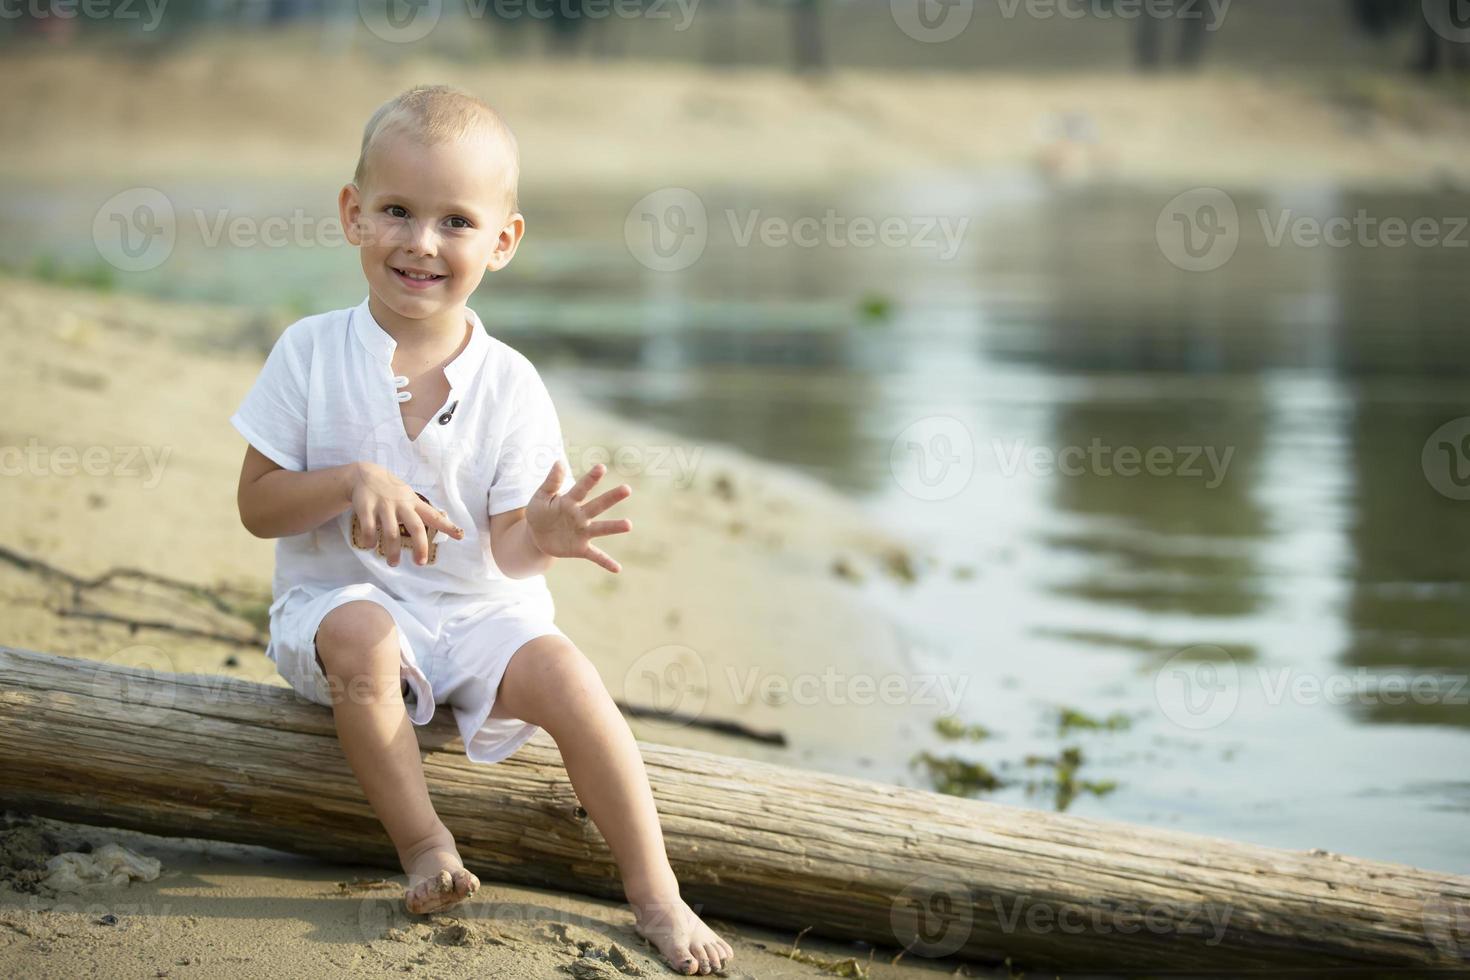
<instances>
[{"instance_id":1,"label":"boy's bare left-hand leg, hanging bent against the log","mask_svg":"<svg viewBox=\"0 0 1470 980\"><path fill-rule=\"evenodd\" d=\"M403 705L392 616L376 602L344 602L322 617L316 651L343 754L409 876L404 905L431 912L469 898L479 879L465 868L429 802L419 739Z\"/></svg>"}]
</instances>

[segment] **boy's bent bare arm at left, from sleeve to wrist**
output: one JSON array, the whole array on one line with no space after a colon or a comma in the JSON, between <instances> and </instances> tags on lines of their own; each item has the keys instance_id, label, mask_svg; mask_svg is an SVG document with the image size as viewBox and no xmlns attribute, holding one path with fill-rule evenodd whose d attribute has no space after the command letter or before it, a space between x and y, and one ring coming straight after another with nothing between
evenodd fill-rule
<instances>
[{"instance_id":1,"label":"boy's bent bare arm at left, from sleeve to wrist","mask_svg":"<svg viewBox=\"0 0 1470 980\"><path fill-rule=\"evenodd\" d=\"M245 447L240 467L240 523L256 538L285 538L325 525L351 507L359 463L287 470Z\"/></svg>"}]
</instances>

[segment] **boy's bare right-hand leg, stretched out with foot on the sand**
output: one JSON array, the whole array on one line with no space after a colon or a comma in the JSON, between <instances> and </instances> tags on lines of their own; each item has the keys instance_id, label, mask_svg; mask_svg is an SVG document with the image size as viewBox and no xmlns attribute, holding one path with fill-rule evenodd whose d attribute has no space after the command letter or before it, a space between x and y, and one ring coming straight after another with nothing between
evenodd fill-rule
<instances>
[{"instance_id":1,"label":"boy's bare right-hand leg, stretched out with foot on the sand","mask_svg":"<svg viewBox=\"0 0 1470 980\"><path fill-rule=\"evenodd\" d=\"M641 936L685 974L720 970L735 951L679 898L648 773L597 669L562 636L538 636L510 658L494 718L547 730L572 789L607 840Z\"/></svg>"}]
</instances>

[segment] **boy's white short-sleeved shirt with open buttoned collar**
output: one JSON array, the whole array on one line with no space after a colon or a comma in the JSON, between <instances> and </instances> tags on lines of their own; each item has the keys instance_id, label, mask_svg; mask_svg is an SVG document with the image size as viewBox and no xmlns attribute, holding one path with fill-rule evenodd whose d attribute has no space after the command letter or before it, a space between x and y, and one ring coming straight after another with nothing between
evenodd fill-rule
<instances>
[{"instance_id":1,"label":"boy's white short-sleeved shirt with open buttoned collar","mask_svg":"<svg viewBox=\"0 0 1470 980\"><path fill-rule=\"evenodd\" d=\"M535 366L492 338L466 307L470 339L444 366L450 383L412 442L398 407L407 378L392 373L397 341L362 304L297 320L276 339L254 386L229 422L256 450L288 470L370 461L448 513L465 529L440 532L434 564L406 550L397 567L376 548L353 548L353 508L300 535L276 539L273 598L306 585L372 582L403 601L444 595L542 595L544 576L507 579L490 551L490 516L525 507L562 458L566 492L575 478L551 395Z\"/></svg>"}]
</instances>

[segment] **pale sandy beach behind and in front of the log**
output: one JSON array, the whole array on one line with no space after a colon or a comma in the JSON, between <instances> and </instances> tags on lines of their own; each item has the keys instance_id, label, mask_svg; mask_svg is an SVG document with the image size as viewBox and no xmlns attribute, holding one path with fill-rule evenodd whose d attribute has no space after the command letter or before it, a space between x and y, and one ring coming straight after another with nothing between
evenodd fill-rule
<instances>
[{"instance_id":1,"label":"pale sandy beach behind and in front of the log","mask_svg":"<svg viewBox=\"0 0 1470 980\"><path fill-rule=\"evenodd\" d=\"M0 442L24 450L6 460L6 507L0 508L0 541L7 548L7 560L0 561L3 642L284 685L259 642L273 545L240 526L234 501L244 444L228 416L253 382L259 360L207 357L171 339L245 329L250 316L19 279L0 282L0 350L15 369L16 385ZM65 395L60 411L59 394ZM584 447L591 454L592 447L625 447L635 453L625 458L645 461L617 472L634 488L623 505L637 529L609 545L623 573L614 577L591 563L554 566L548 582L559 624L597 663L614 696L670 707L673 692L654 692L639 686L639 679L650 664L666 663L672 649L707 679L695 702L676 705L681 711L779 730L788 746L641 720L632 721L635 735L800 765L813 755L841 757L856 726L886 724L894 751L908 751L906 733L911 732L898 714L804 710L750 696L738 680L750 671L761 677L820 671L829 661L875 674L901 669L903 638L861 599L863 585L833 573L832 564L841 560L864 580L883 579L892 574L894 555L907 555L903 542L813 482L728 447L631 426L578 403L572 392L553 389L553 395L569 450ZM654 464L656 457L684 464ZM573 455L579 470L591 460ZM96 582L116 569L153 577ZM228 611L188 586L225 599ZM842 652L839 663L835 651ZM545 733L537 738L548 739ZM394 902L382 896L397 895L397 886L369 889L363 898L357 886L340 889L338 883L382 879L395 868L344 868L260 848L43 826L51 827L49 843L29 821L0 833L10 868L4 873L9 890L0 892L0 962L25 964L32 976L244 976L262 970L291 976L310 949L363 976L388 967L434 976L485 976L488 970L491 976L541 977L560 976L563 967L585 959L579 940L619 942L650 973L659 971L631 930L631 912L607 902L487 882L470 907L440 917L442 923L409 923L398 914L394 923L373 924L365 933L365 902L387 915ZM44 886L13 890L37 887L35 867L82 840L121 842L162 861L162 873L154 882L88 896ZM119 924L94 921L107 914L116 914ZM551 917L581 926L542 921ZM472 932L463 932L466 924ZM390 929L398 933L388 936ZM728 927L726 934L735 936L738 956L729 976L831 976L769 952L789 949L795 936L744 926ZM864 964L869 955L806 940L800 949L835 961L858 955ZM875 954L867 976L938 968L883 965L895 952Z\"/></svg>"}]
</instances>

